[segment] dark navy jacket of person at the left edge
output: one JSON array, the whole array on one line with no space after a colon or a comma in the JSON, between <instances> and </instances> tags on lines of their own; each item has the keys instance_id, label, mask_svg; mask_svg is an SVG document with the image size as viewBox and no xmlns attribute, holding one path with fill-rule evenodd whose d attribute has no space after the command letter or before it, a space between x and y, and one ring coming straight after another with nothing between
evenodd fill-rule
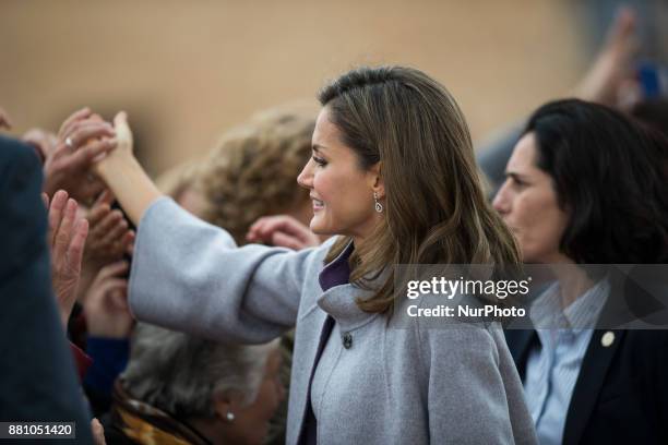
<instances>
[{"instance_id":1,"label":"dark navy jacket of person at the left edge","mask_svg":"<svg viewBox=\"0 0 668 445\"><path fill-rule=\"evenodd\" d=\"M92 443L72 354L51 290L34 151L0 136L0 421L76 422Z\"/></svg>"}]
</instances>

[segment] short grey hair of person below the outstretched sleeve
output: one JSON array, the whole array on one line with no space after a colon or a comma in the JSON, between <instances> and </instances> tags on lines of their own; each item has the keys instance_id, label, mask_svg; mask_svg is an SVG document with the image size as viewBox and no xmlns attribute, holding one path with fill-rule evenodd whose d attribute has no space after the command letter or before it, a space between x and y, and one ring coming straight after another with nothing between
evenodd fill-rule
<instances>
[{"instance_id":1,"label":"short grey hair of person below the outstretched sleeve","mask_svg":"<svg viewBox=\"0 0 668 445\"><path fill-rule=\"evenodd\" d=\"M122 374L126 389L179 418L214 417L213 397L236 392L251 404L276 341L223 344L148 324L139 324Z\"/></svg>"}]
</instances>

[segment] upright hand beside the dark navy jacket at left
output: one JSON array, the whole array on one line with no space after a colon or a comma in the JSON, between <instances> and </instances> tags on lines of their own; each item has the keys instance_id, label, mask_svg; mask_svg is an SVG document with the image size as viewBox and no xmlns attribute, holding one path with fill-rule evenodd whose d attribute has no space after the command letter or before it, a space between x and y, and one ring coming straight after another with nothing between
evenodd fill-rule
<instances>
[{"instance_id":1,"label":"upright hand beside the dark navy jacket at left","mask_svg":"<svg viewBox=\"0 0 668 445\"><path fill-rule=\"evenodd\" d=\"M48 196L43 195L48 206ZM51 248L51 280L63 326L76 300L81 276L81 261L88 234L88 221L76 217L76 201L68 199L63 190L56 192L49 206L49 238Z\"/></svg>"}]
</instances>

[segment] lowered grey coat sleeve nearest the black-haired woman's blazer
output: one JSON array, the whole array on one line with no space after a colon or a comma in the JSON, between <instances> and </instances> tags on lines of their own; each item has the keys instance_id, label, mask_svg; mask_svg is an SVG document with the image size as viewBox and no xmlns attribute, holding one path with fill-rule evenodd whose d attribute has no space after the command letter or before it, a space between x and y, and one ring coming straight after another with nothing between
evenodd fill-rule
<instances>
[{"instance_id":1,"label":"lowered grey coat sleeve nearest the black-haired woman's blazer","mask_svg":"<svg viewBox=\"0 0 668 445\"><path fill-rule=\"evenodd\" d=\"M450 325L424 329L420 337L428 366L430 443L536 443L521 385L505 382L518 383L518 377L502 373L498 344L488 329Z\"/></svg>"}]
</instances>

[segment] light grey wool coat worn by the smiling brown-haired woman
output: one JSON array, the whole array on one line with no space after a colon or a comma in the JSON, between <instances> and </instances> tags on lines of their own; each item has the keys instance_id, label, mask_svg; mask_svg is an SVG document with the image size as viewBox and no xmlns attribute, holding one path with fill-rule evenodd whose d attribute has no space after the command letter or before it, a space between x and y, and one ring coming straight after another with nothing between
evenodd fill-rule
<instances>
[{"instance_id":1,"label":"light grey wool coat worn by the smiling brown-haired woman","mask_svg":"<svg viewBox=\"0 0 668 445\"><path fill-rule=\"evenodd\" d=\"M309 401L321 444L536 443L498 326L390 328L357 308L365 291L354 285L323 291L330 245L236 248L162 197L139 226L130 305L139 320L219 340L266 342L296 327L288 444ZM312 373L327 315L335 324Z\"/></svg>"}]
</instances>

